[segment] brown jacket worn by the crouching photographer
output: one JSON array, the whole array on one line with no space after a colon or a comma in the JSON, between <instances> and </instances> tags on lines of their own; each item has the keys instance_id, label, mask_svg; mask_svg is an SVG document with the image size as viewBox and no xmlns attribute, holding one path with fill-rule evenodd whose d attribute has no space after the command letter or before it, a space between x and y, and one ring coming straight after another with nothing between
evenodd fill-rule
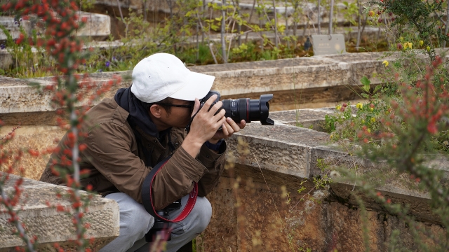
<instances>
[{"instance_id":1,"label":"brown jacket worn by the crouching photographer","mask_svg":"<svg viewBox=\"0 0 449 252\"><path fill-rule=\"evenodd\" d=\"M81 179L81 186L88 184L100 194L122 192L142 203L142 183L149 171L158 162L170 155L168 134L159 142L156 137L149 136L139 129L142 144L138 144L135 134L126 118L128 112L122 109L114 99L104 99L87 113L87 120L81 127L87 137L81 141L87 145L81 153L80 167L90 173ZM216 154L206 146L196 158L192 158L181 146L187 132L173 127L170 130L170 140L176 151L166 165L156 175L153 183L154 206L163 209L173 201L189 194L193 182L199 183L199 196L206 196L217 185L225 165L226 148L223 153ZM41 181L65 185L59 176L51 172L51 166L60 163L63 151L68 148L67 134L62 138L59 151L51 155L47 167L41 176ZM145 146L146 150L143 150ZM150 153L151 167L144 163L145 154ZM65 168L67 169L67 168Z\"/></svg>"}]
</instances>

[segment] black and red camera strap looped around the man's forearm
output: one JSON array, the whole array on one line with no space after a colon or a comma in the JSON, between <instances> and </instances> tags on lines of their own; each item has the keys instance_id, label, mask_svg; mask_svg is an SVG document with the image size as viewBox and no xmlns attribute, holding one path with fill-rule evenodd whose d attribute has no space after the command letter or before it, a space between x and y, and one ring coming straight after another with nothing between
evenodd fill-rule
<instances>
[{"instance_id":1,"label":"black and red camera strap looped around the man's forearm","mask_svg":"<svg viewBox=\"0 0 449 252\"><path fill-rule=\"evenodd\" d=\"M198 183L194 182L194 189L189 194L189 200L187 200L187 204L185 205L184 209L182 209L181 214L174 218L173 220L169 220L167 218L163 218L159 214L157 214L156 209L154 209L154 202L153 202L153 195L154 191L152 188L154 178L156 177L156 174L161 171L162 167L166 165L168 160L170 160L171 155L166 158L165 160L162 160L159 162L151 172L149 172L148 176L145 178L145 181L143 182L142 186L142 199L149 199L149 200L142 200L143 206L147 210L149 214L151 214L154 218L159 219L159 221L168 222L168 223L176 223L178 221L184 220L194 209L196 197L198 197Z\"/></svg>"}]
</instances>

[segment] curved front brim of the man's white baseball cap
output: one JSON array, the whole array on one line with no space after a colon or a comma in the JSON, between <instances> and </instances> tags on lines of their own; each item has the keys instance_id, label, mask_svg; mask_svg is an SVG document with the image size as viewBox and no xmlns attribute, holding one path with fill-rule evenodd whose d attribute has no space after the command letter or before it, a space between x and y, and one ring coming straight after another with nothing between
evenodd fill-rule
<instances>
[{"instance_id":1,"label":"curved front brim of the man's white baseball cap","mask_svg":"<svg viewBox=\"0 0 449 252\"><path fill-rule=\"evenodd\" d=\"M201 99L208 94L212 88L213 80L215 80L215 76L192 71L185 78L187 84L168 97L184 101L194 101L195 98Z\"/></svg>"}]
</instances>

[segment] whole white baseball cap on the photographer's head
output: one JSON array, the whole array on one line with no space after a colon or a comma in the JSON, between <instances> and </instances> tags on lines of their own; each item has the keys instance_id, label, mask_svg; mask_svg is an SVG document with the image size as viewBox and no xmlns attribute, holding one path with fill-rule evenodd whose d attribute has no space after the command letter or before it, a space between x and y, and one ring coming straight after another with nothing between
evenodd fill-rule
<instances>
[{"instance_id":1,"label":"whole white baseball cap on the photographer's head","mask_svg":"<svg viewBox=\"0 0 449 252\"><path fill-rule=\"evenodd\" d=\"M131 92L146 103L167 97L194 101L208 94L214 79L215 76L190 71L175 55L156 53L134 66Z\"/></svg>"}]
</instances>

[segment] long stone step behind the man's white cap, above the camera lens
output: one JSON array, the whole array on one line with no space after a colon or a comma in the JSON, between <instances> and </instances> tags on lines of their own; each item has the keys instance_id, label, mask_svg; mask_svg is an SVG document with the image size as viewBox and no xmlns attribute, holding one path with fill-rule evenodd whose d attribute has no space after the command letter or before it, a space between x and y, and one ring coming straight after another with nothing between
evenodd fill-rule
<instances>
[{"instance_id":1,"label":"long stone step behind the man's white cap, above the camera lens","mask_svg":"<svg viewBox=\"0 0 449 252\"><path fill-rule=\"evenodd\" d=\"M222 94L222 99L259 99L261 94L272 93L272 111L283 111L356 102L361 99L361 89L358 88L361 78L366 76L372 85L381 84L385 69L382 61L393 62L397 57L397 54L384 56L382 52L361 52L189 66L189 69L215 76L213 89ZM131 71L91 74L91 81L96 85L102 85L113 74L123 76L123 81L105 97L112 97L120 87L128 87ZM49 85L51 78L0 77L0 119L6 124L15 125L21 121L22 125L47 125L51 121L52 113L49 112L55 111L50 105L51 94L38 92L27 85L30 81ZM33 113L35 117L20 116L27 113Z\"/></svg>"}]
</instances>

